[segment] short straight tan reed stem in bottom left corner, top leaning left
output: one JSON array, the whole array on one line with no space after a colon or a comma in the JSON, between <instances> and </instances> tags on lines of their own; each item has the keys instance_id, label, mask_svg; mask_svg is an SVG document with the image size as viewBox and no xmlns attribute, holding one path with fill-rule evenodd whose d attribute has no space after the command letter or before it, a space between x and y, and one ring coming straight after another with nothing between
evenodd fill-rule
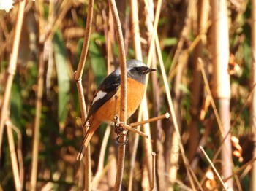
<instances>
[{"instance_id":1,"label":"short straight tan reed stem in bottom left corner, top leaning left","mask_svg":"<svg viewBox=\"0 0 256 191\"><path fill-rule=\"evenodd\" d=\"M16 190L20 191L22 190L22 183L20 182L18 160L15 152L15 143L12 135L12 124L10 121L7 121L6 125L7 125L7 137L8 137L8 143L9 143L9 149L10 149L10 157L12 162L12 172L13 172L13 178L15 182L15 188Z\"/></svg>"}]
</instances>

